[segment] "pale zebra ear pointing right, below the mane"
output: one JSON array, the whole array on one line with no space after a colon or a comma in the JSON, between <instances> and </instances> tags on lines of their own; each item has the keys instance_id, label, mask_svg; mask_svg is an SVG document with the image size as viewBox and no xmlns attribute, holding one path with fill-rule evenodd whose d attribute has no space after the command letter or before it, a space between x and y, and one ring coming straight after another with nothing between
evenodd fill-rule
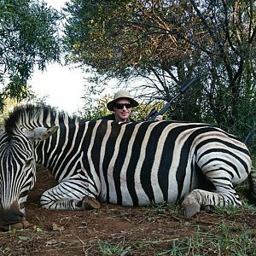
<instances>
[{"instance_id":1,"label":"pale zebra ear pointing right, below the mane","mask_svg":"<svg viewBox=\"0 0 256 256\"><path fill-rule=\"evenodd\" d=\"M32 130L23 130L23 132L26 134L26 137L33 141L43 141L47 139L48 137L52 136L55 131L59 129L59 126L52 126L50 128L46 127L37 127Z\"/></svg>"}]
</instances>

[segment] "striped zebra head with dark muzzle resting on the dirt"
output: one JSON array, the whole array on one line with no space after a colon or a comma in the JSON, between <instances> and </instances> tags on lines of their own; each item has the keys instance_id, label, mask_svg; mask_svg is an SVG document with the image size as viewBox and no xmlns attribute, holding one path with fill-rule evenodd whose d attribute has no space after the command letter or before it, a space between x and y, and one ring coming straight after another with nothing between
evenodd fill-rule
<instances>
[{"instance_id":1,"label":"striped zebra head with dark muzzle resting on the dirt","mask_svg":"<svg viewBox=\"0 0 256 256\"><path fill-rule=\"evenodd\" d=\"M0 132L0 227L3 230L25 220L24 203L36 181L34 144L57 129L57 126L20 127L14 119L5 122L5 130Z\"/></svg>"}]
</instances>

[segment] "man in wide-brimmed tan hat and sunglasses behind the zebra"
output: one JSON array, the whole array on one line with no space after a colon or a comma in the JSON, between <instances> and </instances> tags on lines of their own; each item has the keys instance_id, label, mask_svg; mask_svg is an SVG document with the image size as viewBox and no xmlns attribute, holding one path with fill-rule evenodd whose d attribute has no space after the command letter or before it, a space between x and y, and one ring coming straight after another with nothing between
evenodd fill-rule
<instances>
[{"instance_id":1,"label":"man in wide-brimmed tan hat and sunglasses behind the zebra","mask_svg":"<svg viewBox=\"0 0 256 256\"><path fill-rule=\"evenodd\" d=\"M138 106L138 102L134 100L129 91L119 90L113 96L113 100L108 102L107 108L113 111L112 114L102 117L102 120L115 120L118 122L132 122L130 119L131 110ZM162 120L163 117L157 116L156 120Z\"/></svg>"}]
</instances>

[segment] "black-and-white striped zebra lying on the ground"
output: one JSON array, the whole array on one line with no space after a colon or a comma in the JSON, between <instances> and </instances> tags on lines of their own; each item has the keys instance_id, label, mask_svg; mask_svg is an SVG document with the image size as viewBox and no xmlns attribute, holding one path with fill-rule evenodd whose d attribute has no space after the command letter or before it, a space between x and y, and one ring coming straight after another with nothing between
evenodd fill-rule
<instances>
[{"instance_id":1,"label":"black-and-white striped zebra lying on the ground","mask_svg":"<svg viewBox=\"0 0 256 256\"><path fill-rule=\"evenodd\" d=\"M236 185L256 175L247 146L218 127L177 121L82 120L50 106L15 108L0 135L0 225L20 223L36 164L57 185L41 206L86 210L175 203L191 218L203 207L239 206Z\"/></svg>"}]
</instances>

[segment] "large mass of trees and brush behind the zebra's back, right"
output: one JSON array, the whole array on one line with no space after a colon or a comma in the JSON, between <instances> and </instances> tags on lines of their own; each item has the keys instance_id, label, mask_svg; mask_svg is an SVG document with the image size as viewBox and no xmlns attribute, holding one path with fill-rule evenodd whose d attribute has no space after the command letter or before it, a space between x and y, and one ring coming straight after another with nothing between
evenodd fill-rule
<instances>
[{"instance_id":1,"label":"large mass of trees and brush behind the zebra's back, right","mask_svg":"<svg viewBox=\"0 0 256 256\"><path fill-rule=\"evenodd\" d=\"M170 101L195 77L172 118L245 138L255 125L255 10L253 0L73 0L68 60L106 79L143 79L134 87L147 101Z\"/></svg>"}]
</instances>

